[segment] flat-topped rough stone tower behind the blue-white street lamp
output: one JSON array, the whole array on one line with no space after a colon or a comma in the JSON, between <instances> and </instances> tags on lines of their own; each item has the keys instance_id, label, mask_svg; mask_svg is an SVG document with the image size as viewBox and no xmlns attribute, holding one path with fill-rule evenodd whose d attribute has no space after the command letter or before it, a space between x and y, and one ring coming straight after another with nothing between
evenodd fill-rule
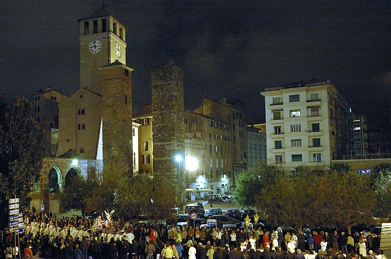
<instances>
[{"instance_id":1,"label":"flat-topped rough stone tower behind the blue-white street lamp","mask_svg":"<svg viewBox=\"0 0 391 259\"><path fill-rule=\"evenodd\" d=\"M183 71L173 61L152 68L153 172L178 181L177 197L184 197L185 127ZM182 160L175 161L180 155Z\"/></svg>"}]
</instances>

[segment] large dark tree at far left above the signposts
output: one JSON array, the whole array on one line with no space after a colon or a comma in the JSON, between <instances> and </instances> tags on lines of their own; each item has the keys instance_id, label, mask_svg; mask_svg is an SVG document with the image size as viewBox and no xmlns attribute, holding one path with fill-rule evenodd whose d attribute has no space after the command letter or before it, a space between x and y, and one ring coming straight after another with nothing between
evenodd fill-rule
<instances>
[{"instance_id":1,"label":"large dark tree at far left above the signposts","mask_svg":"<svg viewBox=\"0 0 391 259\"><path fill-rule=\"evenodd\" d=\"M8 200L19 198L22 209L40 179L44 155L44 131L30 116L31 103L24 97L14 102L0 95L0 224L8 222Z\"/></svg>"}]
</instances>

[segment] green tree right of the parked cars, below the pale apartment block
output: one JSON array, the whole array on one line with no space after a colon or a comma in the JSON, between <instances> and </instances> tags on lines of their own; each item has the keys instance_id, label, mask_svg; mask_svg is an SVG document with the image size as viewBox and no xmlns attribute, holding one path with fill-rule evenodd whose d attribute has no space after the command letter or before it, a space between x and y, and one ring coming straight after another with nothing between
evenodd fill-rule
<instances>
[{"instance_id":1,"label":"green tree right of the parked cars, below the pale apartment block","mask_svg":"<svg viewBox=\"0 0 391 259\"><path fill-rule=\"evenodd\" d=\"M256 206L255 196L266 186L274 184L282 171L279 165L267 161L258 161L254 167L242 171L236 179L234 202L245 207Z\"/></svg>"}]
</instances>

